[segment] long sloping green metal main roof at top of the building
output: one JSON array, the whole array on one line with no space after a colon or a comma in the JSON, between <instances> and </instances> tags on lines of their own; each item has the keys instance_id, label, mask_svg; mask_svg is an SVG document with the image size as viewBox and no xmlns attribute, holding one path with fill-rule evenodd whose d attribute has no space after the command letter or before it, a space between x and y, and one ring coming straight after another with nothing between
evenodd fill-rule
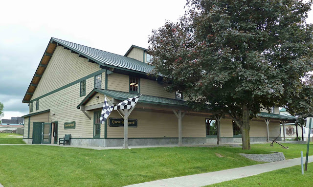
<instances>
[{"instance_id":1,"label":"long sloping green metal main roof at top of the building","mask_svg":"<svg viewBox=\"0 0 313 187\"><path fill-rule=\"evenodd\" d=\"M94 49L91 47L52 37L51 42L53 41L67 47L68 49L78 53L79 55L91 59L92 61L102 66L113 67L141 74L150 73L155 68L154 66L141 62L134 58L109 53L99 49Z\"/></svg>"}]
</instances>

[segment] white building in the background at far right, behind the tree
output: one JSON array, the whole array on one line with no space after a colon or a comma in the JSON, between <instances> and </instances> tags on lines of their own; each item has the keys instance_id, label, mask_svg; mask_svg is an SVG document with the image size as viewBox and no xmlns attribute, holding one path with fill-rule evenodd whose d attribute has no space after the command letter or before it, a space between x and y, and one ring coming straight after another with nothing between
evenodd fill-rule
<instances>
[{"instance_id":1,"label":"white building in the background at far right, behind the tree","mask_svg":"<svg viewBox=\"0 0 313 187\"><path fill-rule=\"evenodd\" d=\"M286 111L285 108L280 109L279 114L280 115L286 115L286 116L292 116L289 112ZM284 137L284 131L283 131L283 125L282 124L280 125L280 129L281 129L281 136ZM304 140L308 139L309 132L311 133L310 137L313 137L313 129L311 129L311 131L309 131L309 127L301 128L300 126L298 126L297 129L298 129L298 137L302 138L302 130L303 130ZM294 123L286 123L285 124L285 130L286 130L286 139L295 139L297 137L296 126Z\"/></svg>"}]
</instances>

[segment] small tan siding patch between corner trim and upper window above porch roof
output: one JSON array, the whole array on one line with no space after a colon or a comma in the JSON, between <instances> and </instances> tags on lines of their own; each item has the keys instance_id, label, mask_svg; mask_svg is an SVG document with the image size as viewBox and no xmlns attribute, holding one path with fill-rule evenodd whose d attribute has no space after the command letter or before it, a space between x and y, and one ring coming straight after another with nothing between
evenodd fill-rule
<instances>
[{"instance_id":1,"label":"small tan siding patch between corner trim and upper window above porch roof","mask_svg":"<svg viewBox=\"0 0 313 187\"><path fill-rule=\"evenodd\" d=\"M108 75L108 89L129 92L129 76L116 73Z\"/></svg>"}]
</instances>

